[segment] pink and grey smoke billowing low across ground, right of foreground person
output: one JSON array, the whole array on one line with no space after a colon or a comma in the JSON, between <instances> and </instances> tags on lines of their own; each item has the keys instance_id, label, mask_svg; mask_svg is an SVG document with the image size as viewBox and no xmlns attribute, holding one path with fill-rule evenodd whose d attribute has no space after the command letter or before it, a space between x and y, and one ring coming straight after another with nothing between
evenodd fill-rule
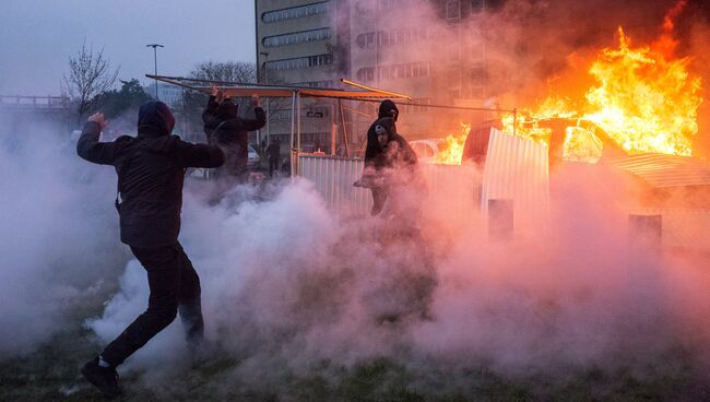
<instances>
[{"instance_id":1,"label":"pink and grey smoke billowing low across ground, right of foreground person","mask_svg":"<svg viewBox=\"0 0 710 402\"><path fill-rule=\"evenodd\" d=\"M485 221L442 193L429 194L422 237L402 238L388 235L397 222L329 211L304 180L265 201L237 189L217 206L192 187L182 243L202 279L208 338L240 362L232 380L252 386L376 357L564 378L641 369L675 348L707 355L710 277L693 259L629 248L634 185L603 167L559 169L553 182L548 224L510 243L488 241ZM102 341L144 309L144 276L129 263L90 321ZM178 321L128 363L151 369L153 385L187 364Z\"/></svg>"}]
</instances>

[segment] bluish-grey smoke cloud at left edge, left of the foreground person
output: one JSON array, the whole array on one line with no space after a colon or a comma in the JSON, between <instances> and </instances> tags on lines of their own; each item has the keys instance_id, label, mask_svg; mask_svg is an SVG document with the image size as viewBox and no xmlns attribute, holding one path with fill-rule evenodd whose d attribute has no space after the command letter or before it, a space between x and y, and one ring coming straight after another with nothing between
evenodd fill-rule
<instances>
[{"instance_id":1,"label":"bluish-grey smoke cloud at left edge, left of the foreground person","mask_svg":"<svg viewBox=\"0 0 710 402\"><path fill-rule=\"evenodd\" d=\"M75 327L126 259L106 208L113 173L79 161L70 133L42 116L7 118L22 130L0 138L0 355L15 356Z\"/></svg>"}]
</instances>

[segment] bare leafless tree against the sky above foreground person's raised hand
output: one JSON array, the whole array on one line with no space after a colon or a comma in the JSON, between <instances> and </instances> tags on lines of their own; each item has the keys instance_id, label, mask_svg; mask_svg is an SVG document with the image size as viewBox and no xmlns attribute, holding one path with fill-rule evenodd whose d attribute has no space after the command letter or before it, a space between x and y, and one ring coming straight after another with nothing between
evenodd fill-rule
<instances>
[{"instance_id":1,"label":"bare leafless tree against the sky above foreground person's raised hand","mask_svg":"<svg viewBox=\"0 0 710 402\"><path fill-rule=\"evenodd\" d=\"M111 70L103 48L94 51L85 42L76 55L69 57L69 76L64 75L64 85L76 103L78 121L96 105L98 95L114 86L119 69Z\"/></svg>"}]
</instances>

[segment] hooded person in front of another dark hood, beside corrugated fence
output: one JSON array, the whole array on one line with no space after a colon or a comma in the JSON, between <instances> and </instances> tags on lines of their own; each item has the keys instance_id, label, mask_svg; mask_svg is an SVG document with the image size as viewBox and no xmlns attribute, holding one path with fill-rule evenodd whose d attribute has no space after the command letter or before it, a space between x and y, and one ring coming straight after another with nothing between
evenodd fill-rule
<instances>
[{"instance_id":1,"label":"hooded person in front of another dark hood, beside corrugated fence","mask_svg":"<svg viewBox=\"0 0 710 402\"><path fill-rule=\"evenodd\" d=\"M372 215L380 214L389 199L389 215L401 217L407 226L416 225L426 184L414 150L397 132L394 117L378 119L367 131L365 168L355 186L371 190Z\"/></svg>"}]
</instances>

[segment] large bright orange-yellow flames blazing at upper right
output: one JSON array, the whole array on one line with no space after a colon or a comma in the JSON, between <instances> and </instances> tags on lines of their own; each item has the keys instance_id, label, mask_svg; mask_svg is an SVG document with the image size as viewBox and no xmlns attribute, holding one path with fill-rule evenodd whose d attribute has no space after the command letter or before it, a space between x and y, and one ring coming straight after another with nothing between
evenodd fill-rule
<instances>
[{"instance_id":1,"label":"large bright orange-yellow flames blazing at upper right","mask_svg":"<svg viewBox=\"0 0 710 402\"><path fill-rule=\"evenodd\" d=\"M618 48L602 49L588 70L595 84L584 99L551 96L535 110L504 116L504 130L547 140L551 130L541 122L576 120L577 125L571 121L566 130L564 145L564 156L576 161L599 159L602 142L595 135L597 130L629 154L693 155L701 83L688 73L690 58L673 58L676 42L671 35L673 17L684 4L681 1L668 12L664 33L653 46L631 46L631 38L619 27Z\"/></svg>"}]
</instances>

